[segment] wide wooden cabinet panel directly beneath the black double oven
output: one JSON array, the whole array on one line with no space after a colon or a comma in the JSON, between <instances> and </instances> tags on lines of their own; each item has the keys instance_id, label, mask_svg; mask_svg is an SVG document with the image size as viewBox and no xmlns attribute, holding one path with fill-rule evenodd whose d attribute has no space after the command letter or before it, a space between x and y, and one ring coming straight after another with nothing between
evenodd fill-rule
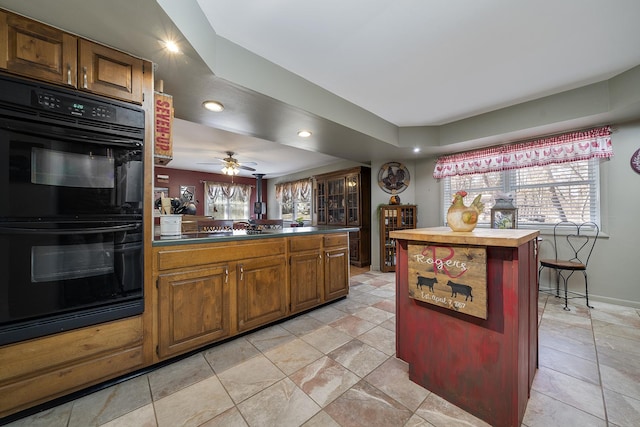
<instances>
[{"instance_id":1,"label":"wide wooden cabinet panel directly beneath the black double oven","mask_svg":"<svg viewBox=\"0 0 640 427\"><path fill-rule=\"evenodd\" d=\"M0 418L145 365L142 316L0 347Z\"/></svg>"}]
</instances>

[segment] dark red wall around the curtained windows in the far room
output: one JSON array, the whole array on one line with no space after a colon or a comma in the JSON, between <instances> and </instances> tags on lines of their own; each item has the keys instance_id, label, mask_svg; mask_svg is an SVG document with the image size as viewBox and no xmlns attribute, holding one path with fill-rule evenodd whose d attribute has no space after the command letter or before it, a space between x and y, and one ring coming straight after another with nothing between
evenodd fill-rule
<instances>
[{"instance_id":1,"label":"dark red wall around the curtained windows in the far room","mask_svg":"<svg viewBox=\"0 0 640 427\"><path fill-rule=\"evenodd\" d=\"M161 166L154 167L154 177L153 177L153 185L154 188L162 187L168 188L169 194L168 197L180 197L180 186L181 185L192 185L196 189L196 193L194 199L196 200L196 215L204 215L204 205L205 205L205 195L204 195L204 181L213 181L213 182L235 182L238 184L247 184L253 186L253 190L251 191L251 204L256 201L256 179L255 178L246 178L240 176L231 177L229 175L217 174L217 173L206 173L206 172L196 172L196 171L187 171L181 169L171 169L171 168L163 168ZM158 180L158 175L168 175L168 180ZM168 182L165 182L168 181ZM267 201L267 180L262 179L262 201ZM255 218L253 214L253 209L251 209L251 218ZM263 216L266 218L266 215Z\"/></svg>"}]
</instances>

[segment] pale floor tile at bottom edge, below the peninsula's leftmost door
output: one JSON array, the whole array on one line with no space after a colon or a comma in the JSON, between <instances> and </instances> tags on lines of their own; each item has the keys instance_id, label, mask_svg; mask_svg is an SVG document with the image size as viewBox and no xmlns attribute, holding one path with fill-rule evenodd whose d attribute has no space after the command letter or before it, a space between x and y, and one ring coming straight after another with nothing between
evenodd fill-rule
<instances>
[{"instance_id":1,"label":"pale floor tile at bottom edge, below the peninsula's leftmost door","mask_svg":"<svg viewBox=\"0 0 640 427\"><path fill-rule=\"evenodd\" d=\"M199 426L233 407L217 377L173 393L154 403L158 427Z\"/></svg>"}]
</instances>

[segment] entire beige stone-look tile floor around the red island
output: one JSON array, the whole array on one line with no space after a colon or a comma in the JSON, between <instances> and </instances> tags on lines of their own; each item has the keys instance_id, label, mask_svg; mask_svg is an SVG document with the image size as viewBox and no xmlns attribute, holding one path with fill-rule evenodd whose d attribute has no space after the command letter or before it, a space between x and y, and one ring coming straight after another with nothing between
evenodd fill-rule
<instances>
[{"instance_id":1,"label":"entire beige stone-look tile floor around the red island","mask_svg":"<svg viewBox=\"0 0 640 427\"><path fill-rule=\"evenodd\" d=\"M409 381L393 273L348 298L176 361L18 426L485 426ZM540 297L540 368L523 426L639 426L640 310Z\"/></svg>"}]
</instances>

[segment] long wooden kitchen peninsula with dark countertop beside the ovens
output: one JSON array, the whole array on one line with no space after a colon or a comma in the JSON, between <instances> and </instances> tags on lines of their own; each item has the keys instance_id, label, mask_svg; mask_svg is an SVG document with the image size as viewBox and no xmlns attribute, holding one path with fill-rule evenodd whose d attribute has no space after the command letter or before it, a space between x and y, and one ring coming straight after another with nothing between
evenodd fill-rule
<instances>
[{"instance_id":1,"label":"long wooden kitchen peninsula with dark countertop beside the ovens","mask_svg":"<svg viewBox=\"0 0 640 427\"><path fill-rule=\"evenodd\" d=\"M156 233L158 361L346 296L350 231Z\"/></svg>"}]
</instances>

